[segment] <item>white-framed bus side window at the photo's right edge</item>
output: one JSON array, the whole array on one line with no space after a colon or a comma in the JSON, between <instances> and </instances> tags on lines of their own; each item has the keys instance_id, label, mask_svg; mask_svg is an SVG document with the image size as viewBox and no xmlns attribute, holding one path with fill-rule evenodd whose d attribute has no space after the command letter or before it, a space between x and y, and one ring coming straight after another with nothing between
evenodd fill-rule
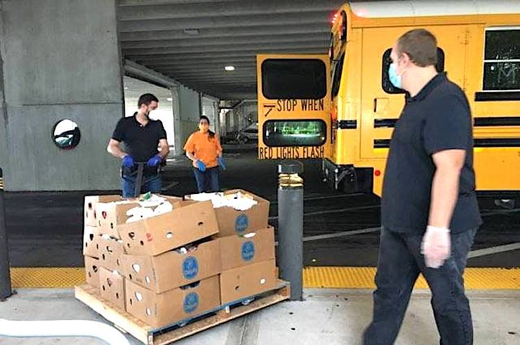
<instances>
[{"instance_id":1,"label":"white-framed bus side window at the photo's right edge","mask_svg":"<svg viewBox=\"0 0 520 345\"><path fill-rule=\"evenodd\" d=\"M520 28L486 30L483 90L520 90Z\"/></svg>"}]
</instances>

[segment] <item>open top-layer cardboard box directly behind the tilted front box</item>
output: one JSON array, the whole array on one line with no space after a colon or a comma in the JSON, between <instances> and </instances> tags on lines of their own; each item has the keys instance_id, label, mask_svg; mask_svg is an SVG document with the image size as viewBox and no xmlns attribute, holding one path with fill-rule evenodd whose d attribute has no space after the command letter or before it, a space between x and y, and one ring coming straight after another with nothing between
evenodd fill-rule
<instances>
[{"instance_id":1,"label":"open top-layer cardboard box directly behind the tilted front box","mask_svg":"<svg viewBox=\"0 0 520 345\"><path fill-rule=\"evenodd\" d=\"M158 195L159 197L164 197L166 201L170 202L172 206L182 201L180 197L171 197L166 195ZM99 232L101 234L107 234L112 236L113 238L121 238L119 236L119 232L117 231L117 226L120 224L125 224L130 216L126 215L126 212L135 207L140 207L141 204L137 201L137 199L122 199L119 200L111 200L110 202L98 202L96 203L96 214L98 219L98 227ZM151 209L155 209L155 207L150 207Z\"/></svg>"}]
</instances>

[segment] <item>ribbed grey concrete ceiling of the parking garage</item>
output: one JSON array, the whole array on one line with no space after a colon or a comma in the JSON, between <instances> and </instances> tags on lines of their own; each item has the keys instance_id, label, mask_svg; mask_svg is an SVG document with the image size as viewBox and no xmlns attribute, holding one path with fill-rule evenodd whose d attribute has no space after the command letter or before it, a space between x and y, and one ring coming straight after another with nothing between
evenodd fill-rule
<instances>
[{"instance_id":1,"label":"ribbed grey concrete ceiling of the parking garage","mask_svg":"<svg viewBox=\"0 0 520 345\"><path fill-rule=\"evenodd\" d=\"M221 99L257 98L258 53L327 53L345 0L119 0L123 58ZM225 71L225 66L234 71Z\"/></svg>"}]
</instances>

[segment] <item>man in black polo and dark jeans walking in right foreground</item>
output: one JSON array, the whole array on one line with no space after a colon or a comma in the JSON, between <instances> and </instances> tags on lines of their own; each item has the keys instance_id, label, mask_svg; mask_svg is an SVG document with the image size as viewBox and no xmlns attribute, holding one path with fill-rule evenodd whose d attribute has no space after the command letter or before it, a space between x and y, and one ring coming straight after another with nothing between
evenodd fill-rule
<instances>
[{"instance_id":1,"label":"man in black polo and dark jeans walking in right foreground","mask_svg":"<svg viewBox=\"0 0 520 345\"><path fill-rule=\"evenodd\" d=\"M462 274L481 220L469 104L460 87L435 70L437 40L427 30L401 36L391 57L390 81L408 94L385 169L374 317L363 341L395 342L422 273L440 343L473 344Z\"/></svg>"}]
</instances>

